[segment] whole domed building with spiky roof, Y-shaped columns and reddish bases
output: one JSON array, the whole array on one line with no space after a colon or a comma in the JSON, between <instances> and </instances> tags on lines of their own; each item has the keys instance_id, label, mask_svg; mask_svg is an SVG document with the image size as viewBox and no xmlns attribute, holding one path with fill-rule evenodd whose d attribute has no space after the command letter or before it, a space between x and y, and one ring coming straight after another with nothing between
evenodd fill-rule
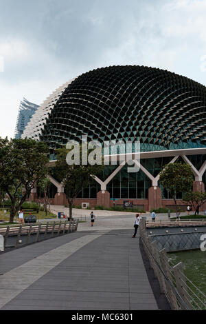
<instances>
[{"instance_id":1,"label":"whole domed building with spiky roof, Y-shaped columns and reddish bases","mask_svg":"<svg viewBox=\"0 0 206 324\"><path fill-rule=\"evenodd\" d=\"M110 66L84 73L55 90L36 110L23 133L45 141L50 148L50 196L55 204L67 203L64 187L55 170L55 149L74 140L103 143L139 142L137 172L127 163L106 165L91 179L75 205L124 205L150 211L172 208L173 200L159 185L163 165L183 161L192 166L194 191L206 185L206 87L187 77L138 65ZM133 144L131 152L135 152ZM112 154L111 154L112 155ZM109 154L108 154L109 156ZM119 161L119 162L118 162ZM40 195L38 186L30 199ZM183 205L182 196L178 204Z\"/></svg>"}]
</instances>

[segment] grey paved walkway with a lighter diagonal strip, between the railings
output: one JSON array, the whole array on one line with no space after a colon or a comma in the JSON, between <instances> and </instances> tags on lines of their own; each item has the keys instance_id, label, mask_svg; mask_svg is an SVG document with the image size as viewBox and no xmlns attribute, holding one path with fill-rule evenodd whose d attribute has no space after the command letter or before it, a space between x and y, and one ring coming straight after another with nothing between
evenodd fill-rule
<instances>
[{"instance_id":1,"label":"grey paved walkway with a lighter diagonal strip, between the railings","mask_svg":"<svg viewBox=\"0 0 206 324\"><path fill-rule=\"evenodd\" d=\"M133 223L102 216L94 227L80 223L78 232L0 254L0 310L168 309Z\"/></svg>"}]
</instances>

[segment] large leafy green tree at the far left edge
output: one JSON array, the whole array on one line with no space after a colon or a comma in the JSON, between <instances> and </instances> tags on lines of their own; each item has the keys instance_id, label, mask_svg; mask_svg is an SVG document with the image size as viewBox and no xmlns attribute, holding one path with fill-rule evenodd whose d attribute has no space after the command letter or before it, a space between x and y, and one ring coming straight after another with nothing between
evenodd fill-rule
<instances>
[{"instance_id":1,"label":"large leafy green tree at the far left edge","mask_svg":"<svg viewBox=\"0 0 206 324\"><path fill-rule=\"evenodd\" d=\"M11 222L35 182L47 175L48 152L45 143L33 139L0 138L0 190L10 197Z\"/></svg>"}]
</instances>

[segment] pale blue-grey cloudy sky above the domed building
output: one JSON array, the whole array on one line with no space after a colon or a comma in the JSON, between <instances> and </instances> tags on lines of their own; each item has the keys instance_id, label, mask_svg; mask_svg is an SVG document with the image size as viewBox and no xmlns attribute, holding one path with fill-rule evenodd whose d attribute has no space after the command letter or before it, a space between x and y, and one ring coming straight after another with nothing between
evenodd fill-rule
<instances>
[{"instance_id":1,"label":"pale blue-grey cloudy sky above the domed building","mask_svg":"<svg viewBox=\"0 0 206 324\"><path fill-rule=\"evenodd\" d=\"M109 65L163 68L206 85L206 0L0 0L0 136L19 103Z\"/></svg>"}]
</instances>

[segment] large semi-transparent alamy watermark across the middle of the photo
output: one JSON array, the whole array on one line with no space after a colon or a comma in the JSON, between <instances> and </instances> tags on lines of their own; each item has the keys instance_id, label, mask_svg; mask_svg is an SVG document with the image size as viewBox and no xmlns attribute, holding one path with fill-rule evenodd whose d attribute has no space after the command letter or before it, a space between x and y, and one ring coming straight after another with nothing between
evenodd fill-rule
<instances>
[{"instance_id":1,"label":"large semi-transparent alamy watermark across the middle of the photo","mask_svg":"<svg viewBox=\"0 0 206 324\"><path fill-rule=\"evenodd\" d=\"M68 165L117 165L126 163L127 172L138 172L140 161L139 141L88 141L82 136L82 142L69 141L66 145Z\"/></svg>"}]
</instances>

